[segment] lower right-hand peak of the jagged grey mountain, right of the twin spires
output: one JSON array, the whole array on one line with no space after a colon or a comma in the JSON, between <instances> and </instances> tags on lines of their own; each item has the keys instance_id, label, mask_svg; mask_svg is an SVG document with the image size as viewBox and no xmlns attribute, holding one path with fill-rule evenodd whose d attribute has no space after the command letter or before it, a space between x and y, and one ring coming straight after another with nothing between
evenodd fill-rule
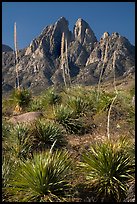
<instances>
[{"instance_id":1,"label":"lower right-hand peak of the jagged grey mountain, right of the twin spires","mask_svg":"<svg viewBox=\"0 0 137 204\"><path fill-rule=\"evenodd\" d=\"M115 51L115 75L126 76L135 71L134 46L118 33L109 35L106 32L99 42L94 44L94 49L87 59L85 69L77 76L83 83L97 82L103 69L102 80L113 78L113 59ZM87 80L88 77L88 80Z\"/></svg>"}]
</instances>

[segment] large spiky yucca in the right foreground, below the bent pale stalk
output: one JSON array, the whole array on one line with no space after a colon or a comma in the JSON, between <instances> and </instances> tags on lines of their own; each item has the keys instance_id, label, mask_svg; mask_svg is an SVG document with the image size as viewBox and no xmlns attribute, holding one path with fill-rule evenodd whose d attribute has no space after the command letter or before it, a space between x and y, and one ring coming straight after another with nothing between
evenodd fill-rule
<instances>
[{"instance_id":1,"label":"large spiky yucca in the right foreground, below the bent pale stalk","mask_svg":"<svg viewBox=\"0 0 137 204\"><path fill-rule=\"evenodd\" d=\"M131 156L123 148L106 142L93 144L82 159L80 166L96 192L97 201L123 201L127 182L133 178Z\"/></svg>"}]
</instances>

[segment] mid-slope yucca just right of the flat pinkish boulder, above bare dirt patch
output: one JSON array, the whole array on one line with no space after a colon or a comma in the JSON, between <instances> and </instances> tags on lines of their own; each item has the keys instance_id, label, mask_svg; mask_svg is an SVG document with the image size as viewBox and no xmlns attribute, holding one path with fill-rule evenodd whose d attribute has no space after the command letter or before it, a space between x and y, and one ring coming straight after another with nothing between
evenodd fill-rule
<instances>
[{"instance_id":1,"label":"mid-slope yucca just right of the flat pinkish boulder, above bare dirt patch","mask_svg":"<svg viewBox=\"0 0 137 204\"><path fill-rule=\"evenodd\" d=\"M55 109L55 120L63 125L66 131L70 134L83 134L85 128L83 123L75 118L73 110L69 109L67 106L60 105Z\"/></svg>"}]
</instances>

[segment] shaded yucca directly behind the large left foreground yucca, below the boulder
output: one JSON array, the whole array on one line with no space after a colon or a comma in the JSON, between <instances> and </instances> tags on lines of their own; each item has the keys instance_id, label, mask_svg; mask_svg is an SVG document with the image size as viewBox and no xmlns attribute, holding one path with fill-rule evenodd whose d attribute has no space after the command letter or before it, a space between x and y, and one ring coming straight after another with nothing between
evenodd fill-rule
<instances>
[{"instance_id":1,"label":"shaded yucca directly behind the large left foreground yucca, below the boulder","mask_svg":"<svg viewBox=\"0 0 137 204\"><path fill-rule=\"evenodd\" d=\"M62 130L53 122L39 120L35 124L33 136L35 146L38 148L50 147L54 141L56 145L63 145L65 140Z\"/></svg>"}]
</instances>

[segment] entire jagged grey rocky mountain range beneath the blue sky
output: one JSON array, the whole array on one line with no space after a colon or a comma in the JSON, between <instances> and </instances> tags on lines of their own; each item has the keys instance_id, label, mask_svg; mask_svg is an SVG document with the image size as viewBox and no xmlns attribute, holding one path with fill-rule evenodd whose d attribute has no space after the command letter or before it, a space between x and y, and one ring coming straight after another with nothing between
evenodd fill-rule
<instances>
[{"instance_id":1,"label":"entire jagged grey rocky mountain range beneath the blue sky","mask_svg":"<svg viewBox=\"0 0 137 204\"><path fill-rule=\"evenodd\" d=\"M99 80L113 77L115 51L116 77L134 73L134 46L118 33L105 32L98 42L87 22L78 19L73 32L68 21L61 17L55 24L44 28L30 45L19 51L19 80L23 87L40 92L48 86L63 83L61 60L61 37L64 32L68 46L68 64L72 83L91 85ZM3 52L2 88L3 93L15 87L15 53Z\"/></svg>"}]
</instances>

